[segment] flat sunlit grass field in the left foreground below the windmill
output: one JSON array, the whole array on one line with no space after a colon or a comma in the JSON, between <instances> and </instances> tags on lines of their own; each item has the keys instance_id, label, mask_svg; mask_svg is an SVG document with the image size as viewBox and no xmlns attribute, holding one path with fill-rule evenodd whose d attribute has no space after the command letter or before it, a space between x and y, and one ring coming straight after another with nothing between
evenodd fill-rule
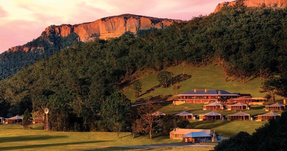
<instances>
[{"instance_id":1,"label":"flat sunlit grass field in the left foreground below the windmill","mask_svg":"<svg viewBox=\"0 0 287 151\"><path fill-rule=\"evenodd\" d=\"M120 138L113 132L56 132L40 130L42 124L34 124L32 130L22 125L0 125L0 150L182 150L183 148L125 148L119 146L146 145L159 143L180 143L166 136L147 135L132 138L131 133L121 133ZM212 148L185 148L189 151L211 150Z\"/></svg>"}]
</instances>

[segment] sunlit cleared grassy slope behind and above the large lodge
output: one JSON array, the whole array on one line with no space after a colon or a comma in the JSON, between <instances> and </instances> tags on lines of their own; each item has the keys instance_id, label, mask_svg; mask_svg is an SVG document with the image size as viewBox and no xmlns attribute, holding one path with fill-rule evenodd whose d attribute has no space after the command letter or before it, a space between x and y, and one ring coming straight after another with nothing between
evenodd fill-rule
<instances>
[{"instance_id":1,"label":"sunlit cleared grassy slope behind and above the large lodge","mask_svg":"<svg viewBox=\"0 0 287 151\"><path fill-rule=\"evenodd\" d=\"M187 79L180 83L180 93L184 93L193 89L223 89L230 93L251 93L254 97L263 97L265 94L259 93L261 82L259 78L248 79L245 83L240 83L235 81L225 82L223 70L215 65L207 65L201 67L190 67L182 65L170 67L167 70L174 73L174 76L183 73L185 68L185 74L191 75L191 78ZM142 83L142 93L145 93L147 90L158 85L156 80L158 72L155 74L142 74L139 77L140 82ZM133 90L133 85L125 89L125 95L134 102L136 99L148 99L150 97L170 97L173 95L171 88L165 89L162 87L156 88L155 91L142 95L139 98L135 98L135 91ZM174 92L176 94L176 92Z\"/></svg>"}]
</instances>

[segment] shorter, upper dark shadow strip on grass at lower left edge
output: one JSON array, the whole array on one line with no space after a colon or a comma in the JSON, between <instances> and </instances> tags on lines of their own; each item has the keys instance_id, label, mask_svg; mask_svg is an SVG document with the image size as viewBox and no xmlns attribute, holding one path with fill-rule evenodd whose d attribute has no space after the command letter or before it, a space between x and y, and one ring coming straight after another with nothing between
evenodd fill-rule
<instances>
[{"instance_id":1,"label":"shorter, upper dark shadow strip on grass at lower left edge","mask_svg":"<svg viewBox=\"0 0 287 151\"><path fill-rule=\"evenodd\" d=\"M30 141L30 140L48 140L55 138L65 138L67 136L50 136L50 135L22 135L22 136L10 136L0 137L0 142L18 142L18 141Z\"/></svg>"}]
</instances>

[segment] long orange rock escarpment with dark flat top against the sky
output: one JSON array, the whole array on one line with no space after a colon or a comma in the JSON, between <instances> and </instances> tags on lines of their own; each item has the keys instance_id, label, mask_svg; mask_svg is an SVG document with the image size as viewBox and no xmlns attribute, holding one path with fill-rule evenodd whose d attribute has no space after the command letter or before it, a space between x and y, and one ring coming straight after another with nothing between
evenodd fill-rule
<instances>
[{"instance_id":1,"label":"long orange rock escarpment with dark flat top against the sky","mask_svg":"<svg viewBox=\"0 0 287 151\"><path fill-rule=\"evenodd\" d=\"M138 30L148 30L151 28L164 29L174 22L180 22L180 20L123 14L105 17L89 23L52 25L45 29L42 36L52 33L65 37L75 32L79 36L80 41L86 42L96 37L101 39L119 37L127 31L136 33Z\"/></svg>"}]
</instances>

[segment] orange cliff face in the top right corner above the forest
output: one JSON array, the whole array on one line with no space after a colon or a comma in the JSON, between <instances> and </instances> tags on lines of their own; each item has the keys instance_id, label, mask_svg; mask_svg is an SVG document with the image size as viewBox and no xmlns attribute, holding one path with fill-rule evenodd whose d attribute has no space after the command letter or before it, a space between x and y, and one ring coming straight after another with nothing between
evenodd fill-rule
<instances>
[{"instance_id":1,"label":"orange cliff face in the top right corner above the forest","mask_svg":"<svg viewBox=\"0 0 287 151\"><path fill-rule=\"evenodd\" d=\"M287 0L244 0L245 6L247 7L273 7L273 8L285 8L287 7ZM233 6L236 1L223 2L216 6L214 13L218 12L224 6Z\"/></svg>"}]
</instances>

